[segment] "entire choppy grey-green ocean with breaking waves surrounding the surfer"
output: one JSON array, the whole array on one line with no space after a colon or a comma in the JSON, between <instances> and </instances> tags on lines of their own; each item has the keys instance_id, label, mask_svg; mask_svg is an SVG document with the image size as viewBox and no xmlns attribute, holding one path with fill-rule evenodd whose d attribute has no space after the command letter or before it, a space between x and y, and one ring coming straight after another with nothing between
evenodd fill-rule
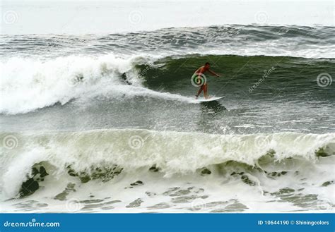
<instances>
[{"instance_id":1,"label":"entire choppy grey-green ocean with breaking waves surrounding the surfer","mask_svg":"<svg viewBox=\"0 0 335 232\"><path fill-rule=\"evenodd\" d=\"M334 35L2 34L1 212L334 212Z\"/></svg>"}]
</instances>

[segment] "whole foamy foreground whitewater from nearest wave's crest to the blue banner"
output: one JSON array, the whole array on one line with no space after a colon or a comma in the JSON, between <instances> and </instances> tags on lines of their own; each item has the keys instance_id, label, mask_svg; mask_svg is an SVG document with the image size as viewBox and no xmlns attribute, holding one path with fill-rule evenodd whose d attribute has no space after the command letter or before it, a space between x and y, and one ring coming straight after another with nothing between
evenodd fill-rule
<instances>
[{"instance_id":1,"label":"whole foamy foreground whitewater from nearest wave's crest to the blue banner","mask_svg":"<svg viewBox=\"0 0 335 232\"><path fill-rule=\"evenodd\" d=\"M1 137L18 152L1 147L1 164L15 167L1 170L4 210L15 202L23 212L331 211L334 134L111 129ZM39 200L19 203L21 184L40 178L30 170L41 166ZM68 195L70 205L59 208Z\"/></svg>"}]
</instances>

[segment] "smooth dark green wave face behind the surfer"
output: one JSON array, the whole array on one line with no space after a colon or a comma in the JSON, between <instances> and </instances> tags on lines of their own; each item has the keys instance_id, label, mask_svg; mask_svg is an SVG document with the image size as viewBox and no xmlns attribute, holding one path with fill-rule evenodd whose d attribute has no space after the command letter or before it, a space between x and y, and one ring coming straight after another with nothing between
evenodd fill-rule
<instances>
[{"instance_id":1,"label":"smooth dark green wave face behind the surfer","mask_svg":"<svg viewBox=\"0 0 335 232\"><path fill-rule=\"evenodd\" d=\"M170 56L153 66L137 66L145 85L153 90L194 94L191 78L197 68L211 63L216 78L205 73L211 93L242 98L300 99L313 97L332 102L334 86L320 87L320 73L334 76L334 59L302 59L283 56ZM143 75L142 75L143 74Z\"/></svg>"}]
</instances>

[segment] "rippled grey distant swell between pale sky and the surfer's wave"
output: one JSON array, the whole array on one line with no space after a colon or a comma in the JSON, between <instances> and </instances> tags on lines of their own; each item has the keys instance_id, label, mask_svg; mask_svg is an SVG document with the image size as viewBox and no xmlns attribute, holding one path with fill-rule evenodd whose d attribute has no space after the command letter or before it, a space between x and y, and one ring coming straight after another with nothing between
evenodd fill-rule
<instances>
[{"instance_id":1,"label":"rippled grey distant swell between pale sky and the surfer's wave","mask_svg":"<svg viewBox=\"0 0 335 232\"><path fill-rule=\"evenodd\" d=\"M0 56L233 54L334 58L334 27L221 25L110 35L2 35Z\"/></svg>"}]
</instances>

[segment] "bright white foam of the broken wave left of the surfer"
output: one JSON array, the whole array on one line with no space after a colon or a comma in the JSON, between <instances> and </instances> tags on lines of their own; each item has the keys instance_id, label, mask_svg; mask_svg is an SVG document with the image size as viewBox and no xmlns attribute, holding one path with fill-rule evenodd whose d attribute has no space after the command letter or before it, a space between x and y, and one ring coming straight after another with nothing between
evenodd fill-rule
<instances>
[{"instance_id":1,"label":"bright white foam of the broken wave left of the surfer","mask_svg":"<svg viewBox=\"0 0 335 232\"><path fill-rule=\"evenodd\" d=\"M123 73L127 73L129 83L139 87L141 79L135 74L134 64L145 61L147 58L143 56L122 59L113 55L67 56L49 61L9 59L0 63L0 112L25 113L57 102L66 104L77 97L92 96L98 94L97 90L117 89L115 86L126 85L121 78Z\"/></svg>"}]
</instances>

